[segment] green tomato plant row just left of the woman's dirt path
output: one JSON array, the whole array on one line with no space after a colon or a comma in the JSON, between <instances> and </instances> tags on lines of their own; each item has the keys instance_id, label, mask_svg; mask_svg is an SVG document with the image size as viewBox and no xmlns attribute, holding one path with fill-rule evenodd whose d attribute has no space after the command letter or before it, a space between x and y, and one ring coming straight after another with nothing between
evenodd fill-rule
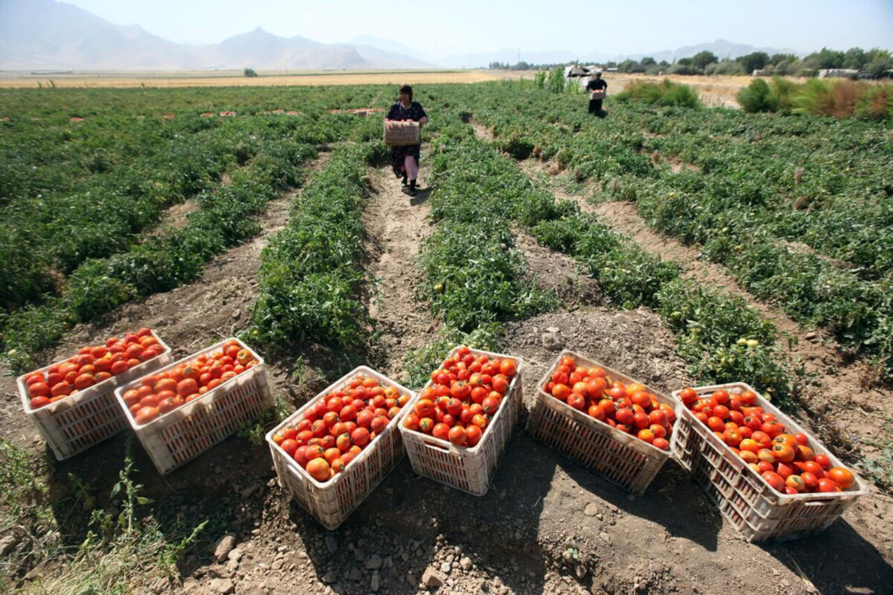
<instances>
[{"instance_id":1,"label":"green tomato plant row just left of the woman's dirt path","mask_svg":"<svg viewBox=\"0 0 893 595\"><path fill-rule=\"evenodd\" d=\"M379 143L338 147L291 205L288 227L263 252L260 297L248 335L253 341L363 344L369 328L358 298L364 279L363 178L381 151Z\"/></svg>"}]
</instances>

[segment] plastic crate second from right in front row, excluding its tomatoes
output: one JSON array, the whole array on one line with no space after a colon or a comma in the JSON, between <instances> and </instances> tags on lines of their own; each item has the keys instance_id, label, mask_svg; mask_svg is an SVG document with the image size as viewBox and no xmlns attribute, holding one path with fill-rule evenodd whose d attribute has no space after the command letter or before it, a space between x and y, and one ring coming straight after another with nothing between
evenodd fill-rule
<instances>
[{"instance_id":1,"label":"plastic crate second from right in front row, excluding its tomatoes","mask_svg":"<svg viewBox=\"0 0 893 595\"><path fill-rule=\"evenodd\" d=\"M673 424L673 431L669 436L670 450L661 450L554 398L544 387L564 356L572 356L580 365L598 366L613 380L624 384L638 382L586 356L564 349L555 359L555 365L549 368L537 384L537 401L527 420L527 432L547 447L624 490L635 494L643 493L671 457L677 424ZM645 388L655 395L658 402L674 406L671 398L648 386Z\"/></svg>"}]
</instances>

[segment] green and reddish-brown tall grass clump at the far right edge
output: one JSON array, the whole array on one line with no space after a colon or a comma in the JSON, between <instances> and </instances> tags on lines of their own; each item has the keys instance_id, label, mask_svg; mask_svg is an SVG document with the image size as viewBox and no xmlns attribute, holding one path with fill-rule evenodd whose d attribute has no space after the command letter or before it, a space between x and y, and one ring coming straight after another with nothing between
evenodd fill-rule
<instances>
[{"instance_id":1,"label":"green and reddish-brown tall grass clump at the far right edge","mask_svg":"<svg viewBox=\"0 0 893 595\"><path fill-rule=\"evenodd\" d=\"M855 80L807 80L797 84L776 77L756 79L738 94L745 112L808 113L839 120L889 120L893 116L893 84Z\"/></svg>"}]
</instances>

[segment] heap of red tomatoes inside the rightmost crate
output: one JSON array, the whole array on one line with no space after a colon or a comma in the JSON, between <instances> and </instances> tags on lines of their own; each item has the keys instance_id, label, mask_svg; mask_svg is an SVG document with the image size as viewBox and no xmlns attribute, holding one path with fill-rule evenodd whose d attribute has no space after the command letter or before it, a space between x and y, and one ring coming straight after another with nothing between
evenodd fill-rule
<instances>
[{"instance_id":1,"label":"heap of red tomatoes inside the rightmost crate","mask_svg":"<svg viewBox=\"0 0 893 595\"><path fill-rule=\"evenodd\" d=\"M776 415L756 406L754 391L716 390L699 398L696 390L687 388L680 390L679 397L700 423L775 490L793 495L842 491L855 485L853 472L832 467L827 455L815 454L806 434L787 432Z\"/></svg>"}]
</instances>

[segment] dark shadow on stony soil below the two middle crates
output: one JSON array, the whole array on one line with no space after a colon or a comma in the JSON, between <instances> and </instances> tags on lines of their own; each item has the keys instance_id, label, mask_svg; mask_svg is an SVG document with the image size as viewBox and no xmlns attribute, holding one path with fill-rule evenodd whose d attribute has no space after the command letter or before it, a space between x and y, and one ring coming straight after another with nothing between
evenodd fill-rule
<instances>
[{"instance_id":1,"label":"dark shadow on stony soil below the two middle crates","mask_svg":"<svg viewBox=\"0 0 893 595\"><path fill-rule=\"evenodd\" d=\"M336 592L369 591L372 571L365 565L376 566L373 553L383 559L381 592L417 592L429 567L444 582L462 575L464 588L480 591L463 573L463 557L488 576L498 574L514 592L541 592L547 566L537 546L539 517L555 464L549 457L530 457L530 441L516 430L490 489L480 498L421 478L404 459L335 531L326 532L294 504L290 516L305 542L328 533L338 543L332 553L307 549L321 580L327 573L337 578L330 585ZM363 549L360 554L358 547ZM345 548L351 552L345 553ZM452 564L435 559L436 551L450 549ZM357 581L345 578L353 567L362 573Z\"/></svg>"}]
</instances>

